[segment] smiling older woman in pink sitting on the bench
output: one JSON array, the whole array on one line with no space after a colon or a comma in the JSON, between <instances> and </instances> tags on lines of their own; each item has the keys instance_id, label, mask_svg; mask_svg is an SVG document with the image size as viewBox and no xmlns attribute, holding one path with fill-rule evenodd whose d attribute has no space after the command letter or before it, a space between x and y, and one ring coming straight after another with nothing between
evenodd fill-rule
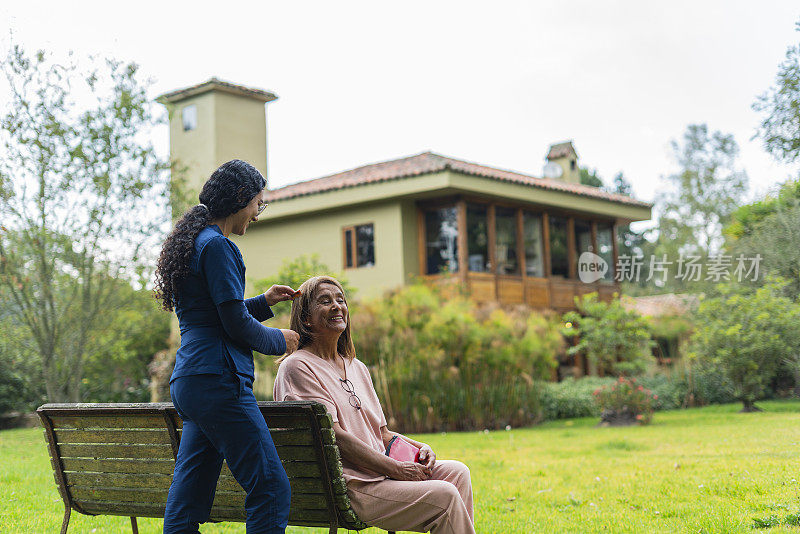
<instances>
[{"instance_id":1,"label":"smiling older woman in pink sitting on the bench","mask_svg":"<svg viewBox=\"0 0 800 534\"><path fill-rule=\"evenodd\" d=\"M386 530L475 532L469 469L437 460L430 446L387 428L369 370L356 358L341 284L317 276L299 290L291 317L299 350L281 360L274 397L327 407L355 512ZM385 454L395 436L420 449L419 463Z\"/></svg>"}]
</instances>

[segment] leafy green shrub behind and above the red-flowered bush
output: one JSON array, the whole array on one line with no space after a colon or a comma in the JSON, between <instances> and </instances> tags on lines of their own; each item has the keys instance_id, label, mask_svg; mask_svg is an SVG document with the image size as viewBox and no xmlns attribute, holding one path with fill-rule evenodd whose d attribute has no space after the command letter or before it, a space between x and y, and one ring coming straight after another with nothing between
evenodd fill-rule
<instances>
[{"instance_id":1,"label":"leafy green shrub behind and above the red-flowered bush","mask_svg":"<svg viewBox=\"0 0 800 534\"><path fill-rule=\"evenodd\" d=\"M577 311L564 314L564 335L577 338L569 354L586 354L599 372L633 375L645 370L653 341L650 323L622 307L619 299L598 300L597 293L576 297Z\"/></svg>"}]
</instances>

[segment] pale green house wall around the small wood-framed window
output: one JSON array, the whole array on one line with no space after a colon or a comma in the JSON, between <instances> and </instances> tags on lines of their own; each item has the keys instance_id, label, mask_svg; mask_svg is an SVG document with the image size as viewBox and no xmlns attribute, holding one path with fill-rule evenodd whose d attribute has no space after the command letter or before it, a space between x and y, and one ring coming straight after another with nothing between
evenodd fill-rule
<instances>
[{"instance_id":1,"label":"pale green house wall around the small wood-framed window","mask_svg":"<svg viewBox=\"0 0 800 534\"><path fill-rule=\"evenodd\" d=\"M358 290L357 296L377 296L405 282L408 260L403 246L402 213L401 203L391 201L270 221L268 208L266 217L252 224L246 235L231 238L244 256L248 291L252 291L252 280L277 274L285 260L318 254L334 274L344 274ZM375 229L375 265L345 269L342 229L366 223L372 223Z\"/></svg>"}]
</instances>

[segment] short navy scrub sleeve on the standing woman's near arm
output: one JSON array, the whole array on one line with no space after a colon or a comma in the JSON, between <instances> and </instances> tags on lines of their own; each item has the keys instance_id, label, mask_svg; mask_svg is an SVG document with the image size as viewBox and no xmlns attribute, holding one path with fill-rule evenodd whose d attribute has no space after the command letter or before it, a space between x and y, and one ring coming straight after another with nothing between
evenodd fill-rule
<instances>
[{"instance_id":1,"label":"short navy scrub sleeve on the standing woman's near arm","mask_svg":"<svg viewBox=\"0 0 800 534\"><path fill-rule=\"evenodd\" d=\"M215 305L244 298L244 261L229 239L220 236L206 243L200 252L200 271Z\"/></svg>"}]
</instances>

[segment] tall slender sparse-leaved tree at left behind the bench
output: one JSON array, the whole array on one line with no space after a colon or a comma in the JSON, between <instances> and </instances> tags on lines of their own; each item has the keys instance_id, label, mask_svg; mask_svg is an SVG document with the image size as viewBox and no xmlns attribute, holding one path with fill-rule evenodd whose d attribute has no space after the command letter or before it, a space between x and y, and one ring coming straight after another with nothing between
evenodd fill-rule
<instances>
[{"instance_id":1,"label":"tall slender sparse-leaved tree at left behind the bench","mask_svg":"<svg viewBox=\"0 0 800 534\"><path fill-rule=\"evenodd\" d=\"M169 176L135 64L79 67L12 47L0 118L0 287L30 335L47 397L81 400L86 356L143 285L169 222Z\"/></svg>"}]
</instances>

